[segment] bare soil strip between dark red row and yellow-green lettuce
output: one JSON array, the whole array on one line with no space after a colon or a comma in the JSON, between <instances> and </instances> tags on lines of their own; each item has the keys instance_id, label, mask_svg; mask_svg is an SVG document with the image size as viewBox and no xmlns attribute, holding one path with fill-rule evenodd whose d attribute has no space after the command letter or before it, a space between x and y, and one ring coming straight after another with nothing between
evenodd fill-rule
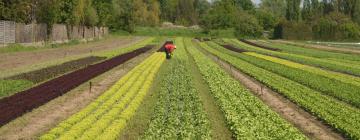
<instances>
[{"instance_id":1,"label":"bare soil strip between dark red row and yellow-green lettuce","mask_svg":"<svg viewBox=\"0 0 360 140\"><path fill-rule=\"evenodd\" d=\"M36 139L61 121L79 112L150 54L151 52L142 54L92 79L93 86L91 92L89 91L89 83L85 83L69 93L2 126L0 128L0 139Z\"/></svg>"}]
</instances>

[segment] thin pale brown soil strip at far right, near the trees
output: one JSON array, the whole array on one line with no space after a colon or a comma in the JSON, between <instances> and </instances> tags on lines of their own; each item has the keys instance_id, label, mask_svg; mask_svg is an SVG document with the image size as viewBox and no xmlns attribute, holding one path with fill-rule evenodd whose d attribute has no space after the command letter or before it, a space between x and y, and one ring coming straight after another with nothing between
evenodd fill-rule
<instances>
[{"instance_id":1,"label":"thin pale brown soil strip at far right, near the trees","mask_svg":"<svg viewBox=\"0 0 360 140\"><path fill-rule=\"evenodd\" d=\"M323 46L323 45L311 45L311 44L297 44L297 43L286 41L286 40L273 40L272 42L289 44L289 45L299 46L299 47L304 47L304 48L325 50L325 51L360 54L360 50L349 49L349 48L337 48L337 47L328 47L328 46Z\"/></svg>"}]
</instances>

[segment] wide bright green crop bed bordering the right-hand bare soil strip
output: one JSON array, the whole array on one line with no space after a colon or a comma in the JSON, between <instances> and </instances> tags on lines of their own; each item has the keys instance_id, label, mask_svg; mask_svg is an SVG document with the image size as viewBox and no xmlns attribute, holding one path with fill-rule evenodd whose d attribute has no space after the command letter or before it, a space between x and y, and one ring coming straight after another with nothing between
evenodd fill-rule
<instances>
[{"instance_id":1,"label":"wide bright green crop bed bordering the right-hand bare soil strip","mask_svg":"<svg viewBox=\"0 0 360 140\"><path fill-rule=\"evenodd\" d=\"M194 48L190 39L186 40L186 45L236 139L306 139L300 131Z\"/></svg>"}]
</instances>

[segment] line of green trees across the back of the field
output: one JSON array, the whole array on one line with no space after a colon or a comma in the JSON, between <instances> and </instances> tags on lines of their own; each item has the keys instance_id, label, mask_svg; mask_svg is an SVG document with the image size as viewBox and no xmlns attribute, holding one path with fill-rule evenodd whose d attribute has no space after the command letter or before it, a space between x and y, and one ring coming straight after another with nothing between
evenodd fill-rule
<instances>
[{"instance_id":1,"label":"line of green trees across the back of the field","mask_svg":"<svg viewBox=\"0 0 360 140\"><path fill-rule=\"evenodd\" d=\"M241 38L360 38L360 0L1 0L0 19L23 23L108 26L200 25L235 29Z\"/></svg>"}]
</instances>

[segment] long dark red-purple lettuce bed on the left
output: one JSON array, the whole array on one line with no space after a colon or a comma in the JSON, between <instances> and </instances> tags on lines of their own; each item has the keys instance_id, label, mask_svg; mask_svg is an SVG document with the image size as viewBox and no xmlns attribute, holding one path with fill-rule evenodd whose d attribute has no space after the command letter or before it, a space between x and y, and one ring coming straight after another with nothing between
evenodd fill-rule
<instances>
[{"instance_id":1,"label":"long dark red-purple lettuce bed on the left","mask_svg":"<svg viewBox=\"0 0 360 140\"><path fill-rule=\"evenodd\" d=\"M150 50L150 47L143 47L135 51L114 57L107 61L90 65L72 73L63 75L51 81L40 84L29 90L19 92L13 96L0 100L0 125L23 115L24 113L37 108L48 101L65 94L80 84Z\"/></svg>"}]
</instances>

